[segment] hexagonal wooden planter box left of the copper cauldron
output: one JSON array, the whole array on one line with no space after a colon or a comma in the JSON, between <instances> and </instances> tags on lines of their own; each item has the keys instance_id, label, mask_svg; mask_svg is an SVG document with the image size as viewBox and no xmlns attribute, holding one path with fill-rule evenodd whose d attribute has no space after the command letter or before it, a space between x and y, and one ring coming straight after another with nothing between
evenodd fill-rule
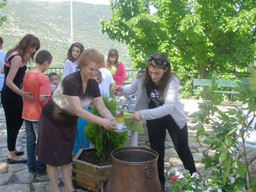
<instances>
[{"instance_id":1,"label":"hexagonal wooden planter box left of the copper cauldron","mask_svg":"<svg viewBox=\"0 0 256 192\"><path fill-rule=\"evenodd\" d=\"M72 179L74 186L94 192L101 191L102 182L108 180L112 165L98 166L79 160L79 157L86 151L93 151L95 148L80 149L73 158Z\"/></svg>"}]
</instances>

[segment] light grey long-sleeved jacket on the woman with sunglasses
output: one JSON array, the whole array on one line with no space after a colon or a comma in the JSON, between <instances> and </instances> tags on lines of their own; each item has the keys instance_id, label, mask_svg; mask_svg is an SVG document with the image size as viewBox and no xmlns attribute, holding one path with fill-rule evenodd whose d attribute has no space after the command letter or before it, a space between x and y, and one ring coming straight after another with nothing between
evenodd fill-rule
<instances>
[{"instance_id":1,"label":"light grey long-sleeved jacket on the woman with sunglasses","mask_svg":"<svg viewBox=\"0 0 256 192\"><path fill-rule=\"evenodd\" d=\"M177 126L182 129L187 122L183 106L178 98L179 79L175 74L171 74L170 81L164 91L164 105L148 109L150 98L147 96L146 87L143 86L143 72L140 72L132 84L123 87L120 95L131 95L137 92L135 111L140 111L143 120L161 118L171 115Z\"/></svg>"}]
</instances>

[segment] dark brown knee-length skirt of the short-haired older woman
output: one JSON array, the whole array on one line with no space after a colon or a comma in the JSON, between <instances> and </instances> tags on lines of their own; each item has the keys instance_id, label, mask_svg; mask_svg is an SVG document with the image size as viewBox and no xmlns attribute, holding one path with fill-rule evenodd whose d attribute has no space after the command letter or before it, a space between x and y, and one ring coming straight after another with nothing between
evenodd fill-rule
<instances>
[{"instance_id":1,"label":"dark brown knee-length skirt of the short-haired older woman","mask_svg":"<svg viewBox=\"0 0 256 192\"><path fill-rule=\"evenodd\" d=\"M67 165L72 162L72 150L76 138L77 123L63 127L40 116L36 155L42 164Z\"/></svg>"}]
</instances>

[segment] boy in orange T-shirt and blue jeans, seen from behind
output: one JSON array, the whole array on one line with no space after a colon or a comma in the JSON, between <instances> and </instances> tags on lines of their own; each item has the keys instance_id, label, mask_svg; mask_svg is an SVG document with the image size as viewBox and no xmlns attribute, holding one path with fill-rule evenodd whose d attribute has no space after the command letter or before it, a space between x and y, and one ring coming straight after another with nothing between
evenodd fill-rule
<instances>
[{"instance_id":1,"label":"boy in orange T-shirt and blue jeans, seen from behind","mask_svg":"<svg viewBox=\"0 0 256 192\"><path fill-rule=\"evenodd\" d=\"M42 107L48 101L47 98L51 96L49 78L43 73L51 65L52 55L48 51L42 50L38 52L35 60L35 68L26 72L22 87L23 91L27 91L35 97L35 102L24 99L22 118L26 126L28 172L37 172L38 176L43 176L47 174L46 164L41 164L36 160L35 148Z\"/></svg>"}]
</instances>

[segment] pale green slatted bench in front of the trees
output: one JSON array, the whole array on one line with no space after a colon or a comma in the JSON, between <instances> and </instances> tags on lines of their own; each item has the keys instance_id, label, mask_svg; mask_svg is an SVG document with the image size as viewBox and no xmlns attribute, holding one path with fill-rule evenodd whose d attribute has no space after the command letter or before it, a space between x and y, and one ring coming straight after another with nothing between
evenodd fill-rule
<instances>
[{"instance_id":1,"label":"pale green slatted bench in front of the trees","mask_svg":"<svg viewBox=\"0 0 256 192\"><path fill-rule=\"evenodd\" d=\"M225 81L225 80L216 80L216 84L218 87L237 87L237 81ZM201 79L194 79L193 80L193 86L200 86L200 89L193 89L193 91L202 91L201 87L202 86L211 86L212 85L212 80L201 80ZM233 91L233 90L219 90L219 91L214 91L214 93L227 93L227 94L239 94L238 91Z\"/></svg>"}]
</instances>

